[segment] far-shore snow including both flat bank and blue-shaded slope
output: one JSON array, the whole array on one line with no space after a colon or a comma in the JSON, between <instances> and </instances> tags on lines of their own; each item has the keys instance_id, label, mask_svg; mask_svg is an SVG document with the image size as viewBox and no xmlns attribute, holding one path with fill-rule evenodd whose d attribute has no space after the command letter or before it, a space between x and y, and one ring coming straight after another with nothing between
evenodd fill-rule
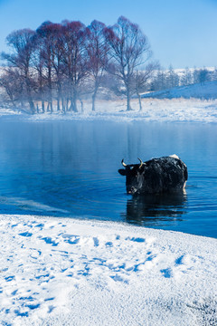
<instances>
[{"instance_id":1,"label":"far-shore snow including both flat bank and blue-shaded slope","mask_svg":"<svg viewBox=\"0 0 217 326\"><path fill-rule=\"evenodd\" d=\"M143 95L142 110L137 99L132 99L132 110L126 110L126 99L96 102L96 111L91 110L91 101L83 101L81 110L78 101L78 113L66 114L55 110L34 115L19 110L0 108L1 116L9 119L30 121L53 120L116 120L116 121L162 121L162 122L217 122L217 82L205 82L189 86L176 87L165 91L156 91ZM55 107L55 103L53 103ZM40 107L40 103L39 103Z\"/></svg>"}]
</instances>

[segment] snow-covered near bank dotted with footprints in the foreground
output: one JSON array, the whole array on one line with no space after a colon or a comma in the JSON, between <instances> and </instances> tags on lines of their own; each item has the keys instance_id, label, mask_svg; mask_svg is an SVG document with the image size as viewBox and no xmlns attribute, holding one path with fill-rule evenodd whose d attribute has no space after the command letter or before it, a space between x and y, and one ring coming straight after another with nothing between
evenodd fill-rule
<instances>
[{"instance_id":1,"label":"snow-covered near bank dotted with footprints in the foreground","mask_svg":"<svg viewBox=\"0 0 217 326\"><path fill-rule=\"evenodd\" d=\"M216 239L0 216L2 325L216 325Z\"/></svg>"}]
</instances>

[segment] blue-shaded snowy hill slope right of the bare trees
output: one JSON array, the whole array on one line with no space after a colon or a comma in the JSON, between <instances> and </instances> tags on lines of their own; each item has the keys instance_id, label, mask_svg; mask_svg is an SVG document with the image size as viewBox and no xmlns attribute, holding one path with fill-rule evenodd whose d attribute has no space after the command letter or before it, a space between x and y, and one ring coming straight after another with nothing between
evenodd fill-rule
<instances>
[{"instance_id":1,"label":"blue-shaded snowy hill slope right of the bare trees","mask_svg":"<svg viewBox=\"0 0 217 326\"><path fill-rule=\"evenodd\" d=\"M156 99L217 99L217 82L205 82L204 84L197 83L188 86L175 87L164 91L151 91L143 94L142 97Z\"/></svg>"}]
</instances>

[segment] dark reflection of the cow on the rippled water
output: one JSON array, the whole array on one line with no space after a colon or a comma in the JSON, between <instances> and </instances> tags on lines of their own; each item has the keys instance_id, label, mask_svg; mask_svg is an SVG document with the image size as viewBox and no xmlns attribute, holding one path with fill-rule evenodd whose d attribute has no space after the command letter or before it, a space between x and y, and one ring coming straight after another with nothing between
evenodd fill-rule
<instances>
[{"instance_id":1,"label":"dark reflection of the cow on the rippled water","mask_svg":"<svg viewBox=\"0 0 217 326\"><path fill-rule=\"evenodd\" d=\"M137 195L127 200L126 222L157 226L182 220L187 197L185 193L166 195ZM162 223L161 223L162 222Z\"/></svg>"}]
</instances>

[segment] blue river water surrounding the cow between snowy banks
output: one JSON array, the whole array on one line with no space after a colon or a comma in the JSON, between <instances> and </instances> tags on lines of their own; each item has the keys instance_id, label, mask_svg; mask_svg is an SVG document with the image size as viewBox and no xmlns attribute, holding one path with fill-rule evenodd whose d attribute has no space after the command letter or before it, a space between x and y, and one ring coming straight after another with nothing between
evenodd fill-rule
<instances>
[{"instance_id":1,"label":"blue river water surrounding the cow between snowy banks","mask_svg":"<svg viewBox=\"0 0 217 326\"><path fill-rule=\"evenodd\" d=\"M217 237L217 126L0 120L0 213L71 216ZM131 197L120 161L177 154L186 194Z\"/></svg>"}]
</instances>

